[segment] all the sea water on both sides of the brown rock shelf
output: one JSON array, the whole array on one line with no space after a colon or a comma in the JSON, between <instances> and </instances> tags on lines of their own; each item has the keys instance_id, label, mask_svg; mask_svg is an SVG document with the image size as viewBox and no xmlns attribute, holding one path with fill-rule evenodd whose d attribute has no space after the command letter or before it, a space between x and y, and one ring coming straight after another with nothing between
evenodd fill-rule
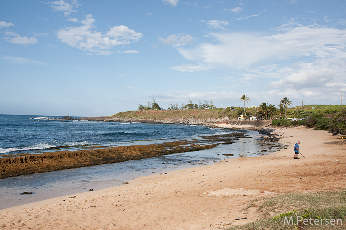
<instances>
[{"instance_id":1,"label":"all the sea water on both sides of the brown rock shelf","mask_svg":"<svg viewBox=\"0 0 346 230\"><path fill-rule=\"evenodd\" d=\"M273 150L268 151L268 146L259 141L259 133L251 130L196 125L64 121L55 118L59 117L0 115L0 157L74 151L93 145L108 147L162 143L228 133L244 133L251 138L203 151L0 179L0 210L87 192L89 189L118 186L138 176L215 164L235 157L261 156ZM234 156L224 156L223 153L233 153Z\"/></svg>"}]
</instances>

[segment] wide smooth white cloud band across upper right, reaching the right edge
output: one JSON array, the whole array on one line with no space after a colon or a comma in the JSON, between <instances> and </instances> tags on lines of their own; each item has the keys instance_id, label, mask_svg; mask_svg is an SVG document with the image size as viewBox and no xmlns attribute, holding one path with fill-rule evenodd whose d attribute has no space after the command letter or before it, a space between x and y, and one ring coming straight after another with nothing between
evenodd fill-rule
<instances>
[{"instance_id":1,"label":"wide smooth white cloud band across upper right, reaching the right edge","mask_svg":"<svg viewBox=\"0 0 346 230\"><path fill-rule=\"evenodd\" d=\"M178 48L190 61L246 69L259 61L292 57L346 58L346 30L325 27L295 27L284 33L260 36L256 33L211 34L216 42L195 48ZM311 58L313 58L311 57ZM269 64L270 65L270 64Z\"/></svg>"}]
</instances>

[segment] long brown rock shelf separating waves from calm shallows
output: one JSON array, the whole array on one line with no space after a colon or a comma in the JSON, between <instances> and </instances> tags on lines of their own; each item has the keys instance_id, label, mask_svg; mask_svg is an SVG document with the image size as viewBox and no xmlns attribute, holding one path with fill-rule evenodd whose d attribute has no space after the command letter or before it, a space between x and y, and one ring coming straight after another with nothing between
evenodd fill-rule
<instances>
[{"instance_id":1,"label":"long brown rock shelf separating waves from calm shallows","mask_svg":"<svg viewBox=\"0 0 346 230\"><path fill-rule=\"evenodd\" d=\"M57 151L0 158L0 179L40 172L116 163L157 157L173 153L211 149L219 144L231 144L244 133L205 136L201 139L165 142L162 144L117 146L79 151Z\"/></svg>"}]
</instances>

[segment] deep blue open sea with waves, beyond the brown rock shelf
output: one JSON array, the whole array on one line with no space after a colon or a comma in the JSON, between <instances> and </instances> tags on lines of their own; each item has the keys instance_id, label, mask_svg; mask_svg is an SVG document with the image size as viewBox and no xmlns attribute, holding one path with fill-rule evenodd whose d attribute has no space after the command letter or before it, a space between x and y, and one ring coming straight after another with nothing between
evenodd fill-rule
<instances>
[{"instance_id":1,"label":"deep blue open sea with waves, beyond the brown rock shelf","mask_svg":"<svg viewBox=\"0 0 346 230\"><path fill-rule=\"evenodd\" d=\"M117 146L140 140L184 139L233 132L205 126L64 121L54 118L58 117L0 115L0 154L40 153L62 147L64 150L76 150L85 145Z\"/></svg>"}]
</instances>

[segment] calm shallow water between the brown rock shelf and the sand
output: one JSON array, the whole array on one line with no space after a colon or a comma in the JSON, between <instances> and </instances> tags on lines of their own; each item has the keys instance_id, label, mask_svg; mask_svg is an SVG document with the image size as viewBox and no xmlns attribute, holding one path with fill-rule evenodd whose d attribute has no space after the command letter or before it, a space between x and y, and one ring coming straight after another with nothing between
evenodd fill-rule
<instances>
[{"instance_id":1,"label":"calm shallow water between the brown rock shelf and the sand","mask_svg":"<svg viewBox=\"0 0 346 230\"><path fill-rule=\"evenodd\" d=\"M149 159L103 164L63 171L22 175L0 180L0 210L75 193L122 185L125 181L153 173L214 164L223 159L261 156L278 148L268 149L259 141L256 131L239 130L252 138L239 139L230 145L213 149L165 155ZM277 144L276 144L277 145ZM232 153L234 156L222 154ZM32 194L22 194L29 192Z\"/></svg>"}]
</instances>

